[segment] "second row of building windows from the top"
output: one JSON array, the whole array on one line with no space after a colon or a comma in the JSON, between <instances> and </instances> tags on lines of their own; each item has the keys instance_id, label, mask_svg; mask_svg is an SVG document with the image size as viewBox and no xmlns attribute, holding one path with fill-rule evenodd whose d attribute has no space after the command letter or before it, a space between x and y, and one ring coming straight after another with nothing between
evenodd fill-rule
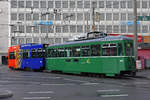
<instances>
[{"instance_id":1,"label":"second row of building windows from the top","mask_svg":"<svg viewBox=\"0 0 150 100\"><path fill-rule=\"evenodd\" d=\"M56 20L56 21L83 21L83 20L91 20L90 13L63 13L63 14L53 14L43 15L39 13L11 13L11 20L19 20L19 21L36 21L36 20ZM140 15L140 13L138 13ZM141 13L142 16L148 16L148 13ZM70 16L70 17L68 17ZM88 16L88 18L87 18ZM133 20L133 13L100 13L96 15L96 21L118 21L118 20Z\"/></svg>"}]
</instances>

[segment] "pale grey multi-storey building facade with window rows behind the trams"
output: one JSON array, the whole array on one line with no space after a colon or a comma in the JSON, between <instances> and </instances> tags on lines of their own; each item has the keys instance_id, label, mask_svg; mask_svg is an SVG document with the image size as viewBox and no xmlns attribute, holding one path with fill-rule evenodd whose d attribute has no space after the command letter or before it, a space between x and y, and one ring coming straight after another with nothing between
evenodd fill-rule
<instances>
[{"instance_id":1,"label":"pale grey multi-storey building facade with window rows behind the trams","mask_svg":"<svg viewBox=\"0 0 150 100\"><path fill-rule=\"evenodd\" d=\"M62 43L92 30L133 34L133 0L10 0L9 46ZM137 0L138 16L150 16L150 0ZM150 22L138 21L150 35Z\"/></svg>"}]
</instances>

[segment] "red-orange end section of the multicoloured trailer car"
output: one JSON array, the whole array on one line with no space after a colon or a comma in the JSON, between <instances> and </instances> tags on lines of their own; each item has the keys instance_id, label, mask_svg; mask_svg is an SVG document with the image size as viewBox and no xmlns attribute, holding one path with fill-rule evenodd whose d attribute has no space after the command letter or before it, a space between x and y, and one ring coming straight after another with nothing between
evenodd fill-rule
<instances>
[{"instance_id":1,"label":"red-orange end section of the multicoloured trailer car","mask_svg":"<svg viewBox=\"0 0 150 100\"><path fill-rule=\"evenodd\" d=\"M11 46L8 49L8 68L18 69L18 59L17 54L19 52L20 46Z\"/></svg>"}]
</instances>

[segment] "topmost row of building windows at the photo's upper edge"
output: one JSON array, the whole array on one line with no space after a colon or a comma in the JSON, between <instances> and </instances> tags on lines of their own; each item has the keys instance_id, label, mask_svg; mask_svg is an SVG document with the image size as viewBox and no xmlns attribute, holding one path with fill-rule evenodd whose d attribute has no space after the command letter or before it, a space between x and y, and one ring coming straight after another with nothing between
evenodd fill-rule
<instances>
[{"instance_id":1,"label":"topmost row of building windows at the photo's upper edge","mask_svg":"<svg viewBox=\"0 0 150 100\"><path fill-rule=\"evenodd\" d=\"M94 3L93 3L94 2ZM16 0L11 1L11 8L132 8L133 1L132 0L121 0L121 1L107 1L107 0L100 0L100 1L90 1L90 0ZM150 1L137 1L138 8L149 8Z\"/></svg>"}]
</instances>

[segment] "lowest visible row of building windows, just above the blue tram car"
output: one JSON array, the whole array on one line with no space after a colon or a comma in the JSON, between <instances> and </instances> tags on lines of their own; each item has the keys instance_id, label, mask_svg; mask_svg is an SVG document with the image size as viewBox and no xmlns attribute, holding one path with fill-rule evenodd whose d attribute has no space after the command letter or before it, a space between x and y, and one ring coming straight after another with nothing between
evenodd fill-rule
<instances>
[{"instance_id":1,"label":"lowest visible row of building windows, just above the blue tram car","mask_svg":"<svg viewBox=\"0 0 150 100\"><path fill-rule=\"evenodd\" d=\"M41 43L61 43L68 41L68 38L41 38ZM40 38L35 37L35 38L17 38L16 39L11 39L11 45L16 45L16 44L24 44L24 43L39 43Z\"/></svg>"}]
</instances>

